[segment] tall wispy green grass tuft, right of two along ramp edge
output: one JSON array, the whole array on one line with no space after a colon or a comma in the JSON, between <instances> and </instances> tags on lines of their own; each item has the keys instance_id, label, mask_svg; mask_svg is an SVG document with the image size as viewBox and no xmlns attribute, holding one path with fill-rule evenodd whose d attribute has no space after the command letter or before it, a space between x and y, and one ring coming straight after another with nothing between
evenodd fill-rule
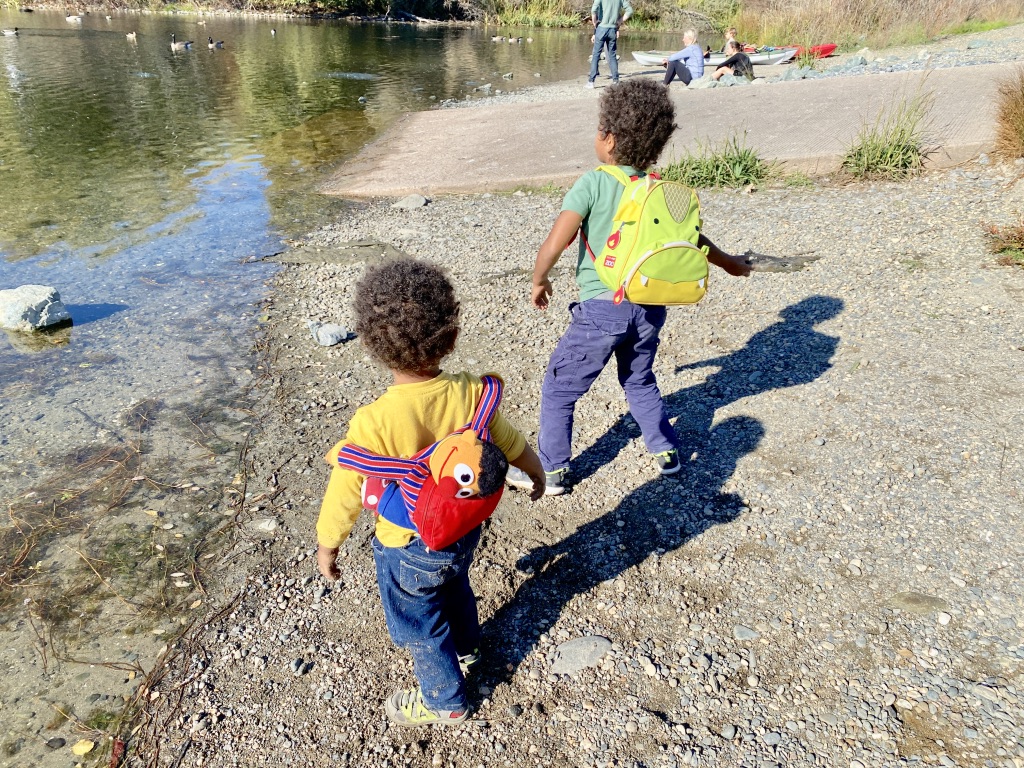
<instances>
[{"instance_id":1,"label":"tall wispy green grass tuft, right of two along ramp edge","mask_svg":"<svg viewBox=\"0 0 1024 768\"><path fill-rule=\"evenodd\" d=\"M874 123L865 125L847 150L843 170L861 179L901 179L918 173L925 160L925 125L931 94L883 109Z\"/></svg>"}]
</instances>

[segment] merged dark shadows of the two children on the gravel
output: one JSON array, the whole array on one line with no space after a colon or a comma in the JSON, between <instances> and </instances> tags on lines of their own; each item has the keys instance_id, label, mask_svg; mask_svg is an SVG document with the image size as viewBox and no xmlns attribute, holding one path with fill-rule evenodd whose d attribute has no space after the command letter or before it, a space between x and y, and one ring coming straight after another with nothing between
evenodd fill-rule
<instances>
[{"instance_id":1,"label":"merged dark shadows of the two children on the gravel","mask_svg":"<svg viewBox=\"0 0 1024 768\"><path fill-rule=\"evenodd\" d=\"M739 516L742 501L723 494L736 463L755 451L764 436L757 419L736 416L712 427L718 408L785 386L806 384L831 367L839 339L814 330L843 309L840 299L815 296L783 309L782 321L751 337L742 349L677 371L717 366L701 383L668 395L676 419L682 469L630 492L615 509L592 520L560 542L541 546L517 563L531 573L512 599L483 626L487 654L494 660L492 682L508 682L537 642L577 595L614 579L652 553L671 552L713 525ZM577 459L572 476L586 478L609 463L639 435L624 416ZM688 461L695 453L695 461Z\"/></svg>"}]
</instances>

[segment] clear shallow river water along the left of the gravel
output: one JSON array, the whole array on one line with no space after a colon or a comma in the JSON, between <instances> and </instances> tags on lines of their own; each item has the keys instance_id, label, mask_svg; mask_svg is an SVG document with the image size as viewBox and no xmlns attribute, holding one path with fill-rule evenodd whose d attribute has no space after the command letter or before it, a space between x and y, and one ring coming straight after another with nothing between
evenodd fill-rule
<instances>
[{"instance_id":1,"label":"clear shallow river water along the left of the gravel","mask_svg":"<svg viewBox=\"0 0 1024 768\"><path fill-rule=\"evenodd\" d=\"M401 113L579 77L590 43L0 9L15 27L0 36L0 289L53 286L74 318L0 334L0 764L42 765L53 701L86 718L117 682L71 676L58 649L152 658L206 599L203 563L244 493L247 386L266 373L253 345L272 267L252 258L344 215L317 186ZM196 44L173 51L172 33Z\"/></svg>"}]
</instances>

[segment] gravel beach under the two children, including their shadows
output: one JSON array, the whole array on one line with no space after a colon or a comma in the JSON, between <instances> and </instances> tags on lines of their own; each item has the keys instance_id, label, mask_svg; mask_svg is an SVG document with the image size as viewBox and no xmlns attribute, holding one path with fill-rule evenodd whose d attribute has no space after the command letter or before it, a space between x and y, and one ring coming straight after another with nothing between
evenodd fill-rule
<instances>
[{"instance_id":1,"label":"gravel beach under the two children, including their shadows","mask_svg":"<svg viewBox=\"0 0 1024 768\"><path fill-rule=\"evenodd\" d=\"M476 712L451 729L384 717L414 678L387 638L370 521L341 582L316 572L321 457L387 381L306 322L350 324L384 252L442 264L464 309L446 369L501 372L536 440L572 259L541 313L528 270L559 195L353 205L274 281L225 607L148 694L151 764L1020 768L1024 270L981 229L1016 220L1019 170L705 193L724 248L817 260L715 275L670 312L656 373L679 475L658 477L605 372L578 409L572 493L506 495L471 577ZM610 645L559 674L572 659L556 648L591 636Z\"/></svg>"}]
</instances>

